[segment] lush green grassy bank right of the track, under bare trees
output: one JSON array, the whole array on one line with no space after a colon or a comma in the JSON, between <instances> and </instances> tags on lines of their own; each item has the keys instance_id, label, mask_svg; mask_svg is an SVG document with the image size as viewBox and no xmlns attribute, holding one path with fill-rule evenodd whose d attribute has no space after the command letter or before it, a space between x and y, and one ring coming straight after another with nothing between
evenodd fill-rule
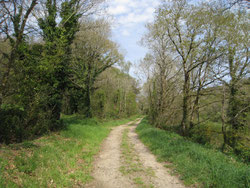
<instances>
[{"instance_id":1,"label":"lush green grassy bank right of the track, under bare trees","mask_svg":"<svg viewBox=\"0 0 250 188\"><path fill-rule=\"evenodd\" d=\"M140 139L186 185L198 187L250 187L250 167L183 137L153 128L144 119L137 127Z\"/></svg>"}]
</instances>

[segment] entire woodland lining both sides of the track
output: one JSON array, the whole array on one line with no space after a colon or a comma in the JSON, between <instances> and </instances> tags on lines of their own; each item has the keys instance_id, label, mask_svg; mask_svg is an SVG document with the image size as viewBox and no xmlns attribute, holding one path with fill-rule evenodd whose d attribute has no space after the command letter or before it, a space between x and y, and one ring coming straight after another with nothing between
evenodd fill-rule
<instances>
[{"instance_id":1,"label":"entire woodland lining both sides of the track","mask_svg":"<svg viewBox=\"0 0 250 188\"><path fill-rule=\"evenodd\" d=\"M64 128L62 114L146 115L163 130L250 161L249 10L162 1L129 75L103 0L0 1L0 143Z\"/></svg>"}]
</instances>

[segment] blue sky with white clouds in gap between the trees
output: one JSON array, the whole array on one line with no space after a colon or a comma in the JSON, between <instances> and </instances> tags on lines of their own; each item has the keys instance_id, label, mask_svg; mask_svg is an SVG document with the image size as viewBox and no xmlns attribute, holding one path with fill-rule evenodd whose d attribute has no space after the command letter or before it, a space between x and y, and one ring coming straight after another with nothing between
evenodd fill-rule
<instances>
[{"instance_id":1,"label":"blue sky with white clouds in gap between the trees","mask_svg":"<svg viewBox=\"0 0 250 188\"><path fill-rule=\"evenodd\" d=\"M120 45L125 60L132 64L142 59L147 49L139 44L146 32L145 24L154 19L160 0L109 0L107 12L111 15L112 39Z\"/></svg>"}]
</instances>

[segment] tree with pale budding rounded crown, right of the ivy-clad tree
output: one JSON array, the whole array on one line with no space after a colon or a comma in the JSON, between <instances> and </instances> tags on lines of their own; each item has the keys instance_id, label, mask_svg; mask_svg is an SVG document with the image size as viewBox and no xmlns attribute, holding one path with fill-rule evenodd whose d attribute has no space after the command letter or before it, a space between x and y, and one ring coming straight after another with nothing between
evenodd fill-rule
<instances>
[{"instance_id":1,"label":"tree with pale budding rounded crown, right of the ivy-clad tree","mask_svg":"<svg viewBox=\"0 0 250 188\"><path fill-rule=\"evenodd\" d=\"M88 28L88 29L85 29ZM71 81L82 89L85 114L91 117L91 94L96 78L106 69L122 60L117 46L109 39L106 21L87 21L81 26L73 43L73 71Z\"/></svg>"}]
</instances>

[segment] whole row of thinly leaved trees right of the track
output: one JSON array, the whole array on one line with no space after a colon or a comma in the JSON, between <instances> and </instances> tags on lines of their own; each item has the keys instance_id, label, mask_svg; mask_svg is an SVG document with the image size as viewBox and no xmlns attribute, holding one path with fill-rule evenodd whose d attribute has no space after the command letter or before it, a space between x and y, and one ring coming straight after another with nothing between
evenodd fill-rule
<instances>
[{"instance_id":1,"label":"whole row of thinly leaved trees right of the track","mask_svg":"<svg viewBox=\"0 0 250 188\"><path fill-rule=\"evenodd\" d=\"M249 161L249 12L243 1L164 1L147 29L141 103L151 123Z\"/></svg>"}]
</instances>

